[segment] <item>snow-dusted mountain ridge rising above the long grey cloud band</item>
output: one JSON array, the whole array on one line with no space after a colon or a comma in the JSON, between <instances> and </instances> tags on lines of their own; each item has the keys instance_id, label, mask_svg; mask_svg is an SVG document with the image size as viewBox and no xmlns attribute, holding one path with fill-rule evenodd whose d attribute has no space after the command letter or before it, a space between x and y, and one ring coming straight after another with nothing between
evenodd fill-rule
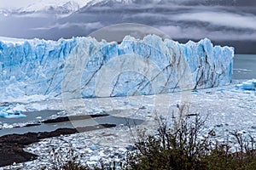
<instances>
[{"instance_id":1,"label":"snow-dusted mountain ridge rising above the long grey cloud band","mask_svg":"<svg viewBox=\"0 0 256 170\"><path fill-rule=\"evenodd\" d=\"M25 4L20 8L0 8L0 15L9 14L33 14L54 13L72 14L80 8L111 7L115 4L138 4L147 5L163 3L166 5L182 4L184 6L206 5L206 6L253 6L255 1L250 0L40 0Z\"/></svg>"}]
</instances>

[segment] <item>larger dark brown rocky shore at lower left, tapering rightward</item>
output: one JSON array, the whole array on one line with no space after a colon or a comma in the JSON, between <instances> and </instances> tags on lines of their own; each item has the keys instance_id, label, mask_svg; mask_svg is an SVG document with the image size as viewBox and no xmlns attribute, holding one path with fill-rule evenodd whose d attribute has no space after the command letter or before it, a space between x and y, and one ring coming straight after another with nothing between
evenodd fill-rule
<instances>
[{"instance_id":1,"label":"larger dark brown rocky shore at lower left, tapering rightward","mask_svg":"<svg viewBox=\"0 0 256 170\"><path fill-rule=\"evenodd\" d=\"M37 159L37 155L23 150L26 145L37 143L41 139L49 139L65 134L87 132L101 128L115 127L114 124L99 124L90 127L59 128L53 132L9 134L0 137L0 167Z\"/></svg>"}]
</instances>

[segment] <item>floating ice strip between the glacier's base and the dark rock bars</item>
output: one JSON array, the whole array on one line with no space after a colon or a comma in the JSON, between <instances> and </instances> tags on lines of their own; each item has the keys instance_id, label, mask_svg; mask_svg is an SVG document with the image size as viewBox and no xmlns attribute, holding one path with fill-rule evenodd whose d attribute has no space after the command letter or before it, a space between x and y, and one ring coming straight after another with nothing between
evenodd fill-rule
<instances>
[{"instance_id":1,"label":"floating ice strip between the glacier's base and the dark rock bars","mask_svg":"<svg viewBox=\"0 0 256 170\"><path fill-rule=\"evenodd\" d=\"M177 111L177 104L186 103L189 104L189 114L199 112L202 116L208 115L208 123L212 126L217 124L223 126L228 123L230 129L251 128L252 130L254 128L254 116L256 116L256 91L236 88L237 84L242 83L236 80L229 86L173 94L71 99L70 104L72 105L68 105L68 107L63 105L61 100L20 103L10 107L14 111L63 111L67 109L70 111L68 116L84 115L84 113L101 114L108 111L113 116L131 117L147 122L151 118L154 119L156 115L171 119L172 111ZM13 127L11 122L14 121L9 120L9 124L5 123L4 128ZM35 122L37 121L36 119ZM22 120L19 122L22 122ZM20 126L22 126L22 123L20 123ZM3 127L3 124L1 127Z\"/></svg>"}]
</instances>

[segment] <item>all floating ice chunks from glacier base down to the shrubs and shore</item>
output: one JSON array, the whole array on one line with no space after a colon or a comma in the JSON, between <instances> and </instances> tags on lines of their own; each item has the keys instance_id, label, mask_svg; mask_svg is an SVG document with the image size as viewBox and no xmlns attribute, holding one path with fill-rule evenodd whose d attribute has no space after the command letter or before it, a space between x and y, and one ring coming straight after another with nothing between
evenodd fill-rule
<instances>
[{"instance_id":1,"label":"all floating ice chunks from glacier base down to the shrubs and shore","mask_svg":"<svg viewBox=\"0 0 256 170\"><path fill-rule=\"evenodd\" d=\"M234 81L229 86L199 89L185 94L178 92L148 96L82 99L86 105L79 105L81 104L79 99L73 99L71 107L73 107L74 114L80 114L83 110L88 112L112 111L114 116L140 118L145 120L145 123L138 128L146 127L149 132L155 132L159 125L156 117L162 116L168 122L172 122L172 111L174 116L178 117L177 104L182 105L187 102L189 112L184 112L183 116L188 113L197 113L202 119L207 117L206 126L201 131L202 135L213 129L219 135L220 142L227 139L228 133L233 131L256 136L254 123L256 122L256 92L237 89L238 82L240 81ZM189 97L190 100L184 100L185 97ZM161 102L155 103L156 98L160 98ZM24 105L30 107L32 104ZM38 105L47 105L51 110L63 109L61 100L40 101ZM193 119L193 116L190 117ZM109 161L109 157L119 160L119 156L124 156L125 151L129 150L133 144L133 137L136 137L136 134L134 127L119 125L119 127L111 129L44 139L38 144L31 144L26 148L26 150L38 154L39 157L36 161L23 164L23 168L32 169L35 168L35 165L47 165L50 160L48 154L52 148L68 148L70 145L76 150L76 153L83 154L84 157L81 160L90 164L96 163L100 158L105 161Z\"/></svg>"}]
</instances>

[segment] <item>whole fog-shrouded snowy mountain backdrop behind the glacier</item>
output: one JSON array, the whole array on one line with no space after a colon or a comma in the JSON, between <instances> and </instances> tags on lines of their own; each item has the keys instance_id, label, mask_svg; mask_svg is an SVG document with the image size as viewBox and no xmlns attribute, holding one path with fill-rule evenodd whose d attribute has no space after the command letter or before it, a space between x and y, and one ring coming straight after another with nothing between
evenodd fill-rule
<instances>
[{"instance_id":1,"label":"whole fog-shrouded snowy mountain backdrop behind the glacier","mask_svg":"<svg viewBox=\"0 0 256 170\"><path fill-rule=\"evenodd\" d=\"M114 24L138 23L153 26L181 42L208 37L213 42L235 46L236 53L256 54L256 1L253 0L21 2L0 5L1 37L56 40L87 36Z\"/></svg>"}]
</instances>

